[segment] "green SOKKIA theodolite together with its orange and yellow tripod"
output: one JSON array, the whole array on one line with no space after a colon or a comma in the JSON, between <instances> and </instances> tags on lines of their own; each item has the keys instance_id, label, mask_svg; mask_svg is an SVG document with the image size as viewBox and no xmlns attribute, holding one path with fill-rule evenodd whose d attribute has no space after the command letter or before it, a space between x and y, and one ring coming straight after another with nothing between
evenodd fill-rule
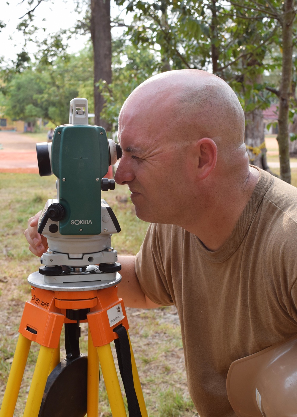
<instances>
[{"instance_id":1,"label":"green SOKKIA theodolite together with its orange and yellow tripod","mask_svg":"<svg viewBox=\"0 0 297 417\"><path fill-rule=\"evenodd\" d=\"M31 300L25 303L0 417L13 417L32 341L40 351L24 417L98 417L99 361L113 417L126 417L110 343L114 341L129 416L147 417L128 336L117 251L111 235L121 228L101 190L121 157L121 147L101 126L88 125L88 101L70 101L69 124L55 128L52 143L36 145L40 176L57 177L57 198L41 211L38 232L48 241L39 271L30 274ZM80 353L80 323L88 323L88 356ZM60 362L65 327L66 358Z\"/></svg>"}]
</instances>

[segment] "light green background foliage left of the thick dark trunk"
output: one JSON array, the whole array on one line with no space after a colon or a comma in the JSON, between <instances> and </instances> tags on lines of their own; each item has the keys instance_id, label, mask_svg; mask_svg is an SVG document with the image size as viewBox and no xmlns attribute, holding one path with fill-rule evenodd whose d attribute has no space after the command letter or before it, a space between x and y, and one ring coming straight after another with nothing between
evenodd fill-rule
<instances>
[{"instance_id":1,"label":"light green background foliage left of the thick dark trunk","mask_svg":"<svg viewBox=\"0 0 297 417\"><path fill-rule=\"evenodd\" d=\"M92 80L90 50L86 49L78 56L56 57L51 64L43 59L34 67L30 64L21 72L6 70L6 77L3 77L6 83L1 88L5 113L25 121L43 118L55 125L68 123L70 100L85 88L84 83L88 85ZM92 106L90 100L90 112Z\"/></svg>"}]
</instances>

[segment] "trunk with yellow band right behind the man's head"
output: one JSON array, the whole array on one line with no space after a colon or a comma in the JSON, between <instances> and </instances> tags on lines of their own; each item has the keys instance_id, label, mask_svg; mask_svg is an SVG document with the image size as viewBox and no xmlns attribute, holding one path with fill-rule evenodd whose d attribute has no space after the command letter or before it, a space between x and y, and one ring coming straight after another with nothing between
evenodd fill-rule
<instances>
[{"instance_id":1,"label":"trunk with yellow band right behind the man's head","mask_svg":"<svg viewBox=\"0 0 297 417\"><path fill-rule=\"evenodd\" d=\"M244 142L247 146L249 162L264 170L268 170L266 147L264 141L264 121L262 110L256 109L245 113Z\"/></svg>"}]
</instances>

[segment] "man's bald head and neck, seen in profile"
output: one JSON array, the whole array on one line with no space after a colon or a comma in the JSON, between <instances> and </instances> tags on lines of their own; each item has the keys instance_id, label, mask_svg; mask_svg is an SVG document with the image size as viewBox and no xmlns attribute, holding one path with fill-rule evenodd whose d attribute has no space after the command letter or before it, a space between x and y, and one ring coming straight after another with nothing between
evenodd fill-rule
<instances>
[{"instance_id":1,"label":"man's bald head and neck, seen in profile","mask_svg":"<svg viewBox=\"0 0 297 417\"><path fill-rule=\"evenodd\" d=\"M124 103L118 138L115 180L128 184L136 215L181 226L218 249L258 175L249 168L244 113L229 85L200 70L155 75Z\"/></svg>"}]
</instances>

